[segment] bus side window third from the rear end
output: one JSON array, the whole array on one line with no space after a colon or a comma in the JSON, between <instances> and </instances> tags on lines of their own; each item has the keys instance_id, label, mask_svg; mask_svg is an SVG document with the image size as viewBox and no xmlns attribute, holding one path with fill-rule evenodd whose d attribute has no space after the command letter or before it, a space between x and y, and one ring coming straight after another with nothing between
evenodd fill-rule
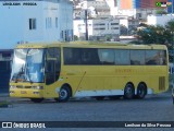
<instances>
[{"instance_id":1,"label":"bus side window third from the rear end","mask_svg":"<svg viewBox=\"0 0 174 131\"><path fill-rule=\"evenodd\" d=\"M129 66L129 50L115 50L115 64Z\"/></svg>"}]
</instances>

